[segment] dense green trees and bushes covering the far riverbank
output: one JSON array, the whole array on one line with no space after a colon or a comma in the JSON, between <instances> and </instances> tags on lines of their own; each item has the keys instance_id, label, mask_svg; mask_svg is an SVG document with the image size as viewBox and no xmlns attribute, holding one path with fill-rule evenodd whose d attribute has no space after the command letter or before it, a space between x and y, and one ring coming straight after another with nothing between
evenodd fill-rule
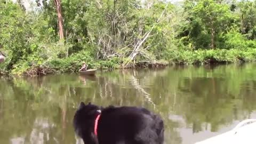
<instances>
[{"instance_id":1,"label":"dense green trees and bushes covering the far riverbank","mask_svg":"<svg viewBox=\"0 0 256 144\"><path fill-rule=\"evenodd\" d=\"M55 1L36 2L0 1L1 73L256 60L255 0L62 0L63 39Z\"/></svg>"}]
</instances>

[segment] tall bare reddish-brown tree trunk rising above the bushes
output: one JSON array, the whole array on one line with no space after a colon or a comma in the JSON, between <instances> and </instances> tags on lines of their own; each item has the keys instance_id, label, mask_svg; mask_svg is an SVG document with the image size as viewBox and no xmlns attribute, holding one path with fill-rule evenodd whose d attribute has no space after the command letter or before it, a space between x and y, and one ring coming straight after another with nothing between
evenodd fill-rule
<instances>
[{"instance_id":1,"label":"tall bare reddish-brown tree trunk rising above the bushes","mask_svg":"<svg viewBox=\"0 0 256 144\"><path fill-rule=\"evenodd\" d=\"M64 38L63 33L63 18L62 18L62 12L61 12L61 0L53 0L54 5L56 7L57 15L58 15L58 26L59 26L59 36L60 39Z\"/></svg>"}]
</instances>

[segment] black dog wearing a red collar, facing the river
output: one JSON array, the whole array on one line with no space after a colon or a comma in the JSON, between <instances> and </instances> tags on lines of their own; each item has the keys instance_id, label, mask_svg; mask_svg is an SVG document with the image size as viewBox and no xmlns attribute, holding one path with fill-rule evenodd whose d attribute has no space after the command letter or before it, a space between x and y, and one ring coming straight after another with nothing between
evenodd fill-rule
<instances>
[{"instance_id":1,"label":"black dog wearing a red collar, facing the river","mask_svg":"<svg viewBox=\"0 0 256 144\"><path fill-rule=\"evenodd\" d=\"M163 144L164 123L145 108L102 108L81 102L74 116L76 134L85 144Z\"/></svg>"}]
</instances>

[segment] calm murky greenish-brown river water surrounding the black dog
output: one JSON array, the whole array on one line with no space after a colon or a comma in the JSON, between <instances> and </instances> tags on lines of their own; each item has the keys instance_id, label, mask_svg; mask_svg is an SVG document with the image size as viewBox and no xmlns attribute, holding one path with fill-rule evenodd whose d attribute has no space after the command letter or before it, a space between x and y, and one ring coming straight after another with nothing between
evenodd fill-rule
<instances>
[{"instance_id":1,"label":"calm murky greenish-brown river water surrounding the black dog","mask_svg":"<svg viewBox=\"0 0 256 144\"><path fill-rule=\"evenodd\" d=\"M72 120L80 101L160 113L165 143L189 144L256 118L256 65L115 70L0 78L0 143L82 143Z\"/></svg>"}]
</instances>

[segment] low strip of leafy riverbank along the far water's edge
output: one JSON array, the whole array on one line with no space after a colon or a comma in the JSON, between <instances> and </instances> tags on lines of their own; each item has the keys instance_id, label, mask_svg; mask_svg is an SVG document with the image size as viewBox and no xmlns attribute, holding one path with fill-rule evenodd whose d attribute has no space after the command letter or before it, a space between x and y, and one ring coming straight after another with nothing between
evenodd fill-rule
<instances>
[{"instance_id":1,"label":"low strip of leafy riverbank along the far water's edge","mask_svg":"<svg viewBox=\"0 0 256 144\"><path fill-rule=\"evenodd\" d=\"M84 56L84 55L85 56ZM86 52L70 55L64 59L25 61L17 63L15 67L9 71L0 71L0 74L8 75L47 75L60 73L77 73L85 61L89 68L97 69L122 69L122 68L160 68L168 65L211 65L211 64L227 64L236 62L250 62L256 60L256 49L213 49L213 50L173 50L162 60L137 60L123 65L125 59L109 58L106 60L95 60L89 57ZM4 65L4 64L3 64Z\"/></svg>"}]
</instances>

